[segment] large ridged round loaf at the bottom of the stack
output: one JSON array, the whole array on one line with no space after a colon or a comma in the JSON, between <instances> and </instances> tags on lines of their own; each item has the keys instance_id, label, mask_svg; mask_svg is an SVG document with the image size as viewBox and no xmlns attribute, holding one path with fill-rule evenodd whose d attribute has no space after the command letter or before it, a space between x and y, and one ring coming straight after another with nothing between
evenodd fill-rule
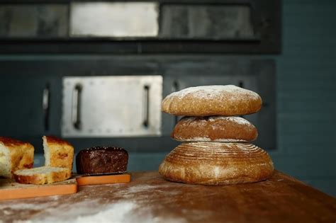
<instances>
[{"instance_id":1,"label":"large ridged round loaf at the bottom of the stack","mask_svg":"<svg viewBox=\"0 0 336 223\"><path fill-rule=\"evenodd\" d=\"M184 142L159 166L159 173L169 181L204 185L262 181L273 171L266 151L233 142Z\"/></svg>"}]
</instances>

